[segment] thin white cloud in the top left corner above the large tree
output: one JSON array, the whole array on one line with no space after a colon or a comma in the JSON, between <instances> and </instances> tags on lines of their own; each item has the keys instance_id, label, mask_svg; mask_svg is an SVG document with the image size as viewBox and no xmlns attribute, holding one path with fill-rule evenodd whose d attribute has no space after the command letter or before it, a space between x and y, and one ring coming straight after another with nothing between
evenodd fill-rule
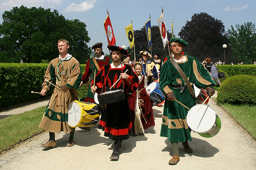
<instances>
[{"instance_id":1,"label":"thin white cloud in the top left corner above the large tree","mask_svg":"<svg viewBox=\"0 0 256 170\"><path fill-rule=\"evenodd\" d=\"M54 8L56 5L59 5L63 2L63 0L39 0L39 1L31 1L31 0L5 0L0 4L0 10L10 10L13 6L21 6L24 5L26 7L45 7L45 8Z\"/></svg>"}]
</instances>

